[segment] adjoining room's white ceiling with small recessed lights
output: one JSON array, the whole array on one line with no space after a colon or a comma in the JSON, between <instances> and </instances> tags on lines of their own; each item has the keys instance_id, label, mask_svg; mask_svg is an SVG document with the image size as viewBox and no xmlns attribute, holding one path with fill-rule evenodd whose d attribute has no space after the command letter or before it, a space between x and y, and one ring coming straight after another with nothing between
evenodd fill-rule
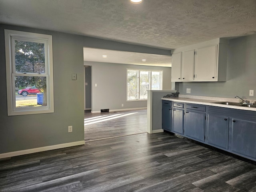
<instances>
[{"instance_id":1,"label":"adjoining room's white ceiling with small recessed lights","mask_svg":"<svg viewBox=\"0 0 256 192\"><path fill-rule=\"evenodd\" d=\"M102 56L107 56L106 58ZM146 59L146 61L142 61ZM172 56L84 47L84 61L171 67Z\"/></svg>"}]
</instances>

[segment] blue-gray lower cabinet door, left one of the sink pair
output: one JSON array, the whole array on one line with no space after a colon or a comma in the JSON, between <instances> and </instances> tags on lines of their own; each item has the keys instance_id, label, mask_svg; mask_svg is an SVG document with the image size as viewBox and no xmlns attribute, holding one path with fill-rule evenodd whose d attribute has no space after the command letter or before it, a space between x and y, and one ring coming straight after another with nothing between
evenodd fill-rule
<instances>
[{"instance_id":1,"label":"blue-gray lower cabinet door, left one of the sink pair","mask_svg":"<svg viewBox=\"0 0 256 192\"><path fill-rule=\"evenodd\" d=\"M206 142L218 148L228 149L228 117L208 114Z\"/></svg>"}]
</instances>

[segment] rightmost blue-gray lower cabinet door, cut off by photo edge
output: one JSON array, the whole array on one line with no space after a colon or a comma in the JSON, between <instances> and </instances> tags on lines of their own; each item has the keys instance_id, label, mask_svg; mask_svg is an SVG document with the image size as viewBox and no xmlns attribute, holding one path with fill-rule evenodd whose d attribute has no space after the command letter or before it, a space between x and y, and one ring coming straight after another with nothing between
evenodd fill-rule
<instances>
[{"instance_id":1,"label":"rightmost blue-gray lower cabinet door, cut off by photo edge","mask_svg":"<svg viewBox=\"0 0 256 192\"><path fill-rule=\"evenodd\" d=\"M256 158L256 122L232 119L231 151Z\"/></svg>"}]
</instances>

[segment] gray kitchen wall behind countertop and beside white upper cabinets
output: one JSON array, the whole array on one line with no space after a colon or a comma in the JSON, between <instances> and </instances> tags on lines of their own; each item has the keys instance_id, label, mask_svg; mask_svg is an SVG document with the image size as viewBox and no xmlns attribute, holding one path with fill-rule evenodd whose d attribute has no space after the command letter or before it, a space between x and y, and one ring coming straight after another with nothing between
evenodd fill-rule
<instances>
[{"instance_id":1,"label":"gray kitchen wall behind countertop and beside white upper cabinets","mask_svg":"<svg viewBox=\"0 0 256 192\"><path fill-rule=\"evenodd\" d=\"M256 34L230 40L226 82L181 82L176 88L180 94L191 88L191 95L256 100Z\"/></svg>"}]
</instances>

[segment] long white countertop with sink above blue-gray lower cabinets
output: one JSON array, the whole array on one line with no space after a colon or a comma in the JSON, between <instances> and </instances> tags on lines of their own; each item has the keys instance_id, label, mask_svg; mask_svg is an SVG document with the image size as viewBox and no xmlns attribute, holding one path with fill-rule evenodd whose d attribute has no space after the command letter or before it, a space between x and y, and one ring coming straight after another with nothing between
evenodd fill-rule
<instances>
[{"instance_id":1,"label":"long white countertop with sink above blue-gray lower cabinets","mask_svg":"<svg viewBox=\"0 0 256 192\"><path fill-rule=\"evenodd\" d=\"M206 97L204 97L206 98ZM223 100L206 100L201 99L200 96L198 96L198 99L196 98L184 98L184 97L173 97L173 98L162 98L162 100L168 100L168 101L176 101L176 102L183 102L183 103L193 103L193 104L201 104L201 105L209 105L209 106L216 106L216 107L224 107L224 108L232 108L232 109L240 109L240 110L248 110L248 111L256 111L256 108L250 108L250 107L244 107L244 106L232 106L232 105L224 105L224 104L216 104L214 102L220 102L220 101L228 101L230 100L223 98Z\"/></svg>"}]
</instances>

